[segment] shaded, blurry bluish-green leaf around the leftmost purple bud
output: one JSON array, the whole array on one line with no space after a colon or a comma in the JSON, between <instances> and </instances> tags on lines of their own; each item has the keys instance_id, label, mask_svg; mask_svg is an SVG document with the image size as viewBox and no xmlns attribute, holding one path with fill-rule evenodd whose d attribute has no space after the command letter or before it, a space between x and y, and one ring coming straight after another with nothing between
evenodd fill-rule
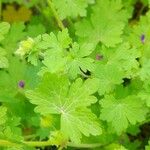
<instances>
[{"instance_id":1,"label":"shaded, blurry bluish-green leaf around the leftmost purple bud","mask_svg":"<svg viewBox=\"0 0 150 150\"><path fill-rule=\"evenodd\" d=\"M0 80L0 96L7 97L8 101L11 100L8 99L9 96L14 96L20 90L32 89L39 80L38 67L27 65L25 61L20 61L16 57L12 57L9 61L10 65L7 70L0 71L0 77L3 79ZM20 81L25 84L23 88L19 87ZM3 98L1 97L1 101Z\"/></svg>"}]
</instances>

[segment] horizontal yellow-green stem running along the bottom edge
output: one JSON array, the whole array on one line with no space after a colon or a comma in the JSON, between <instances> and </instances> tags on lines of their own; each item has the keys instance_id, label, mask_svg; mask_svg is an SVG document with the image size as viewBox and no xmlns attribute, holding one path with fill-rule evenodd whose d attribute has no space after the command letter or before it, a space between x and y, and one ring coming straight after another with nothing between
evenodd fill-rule
<instances>
[{"instance_id":1,"label":"horizontal yellow-green stem running along the bottom edge","mask_svg":"<svg viewBox=\"0 0 150 150\"><path fill-rule=\"evenodd\" d=\"M25 144L27 146L30 147L45 147L45 146L52 146L55 145L53 142L51 141L23 141L22 144ZM20 143L14 143L14 142L10 142L7 140L0 140L0 147L13 147L13 146L19 146L21 145ZM100 143L94 143L94 144L75 144L72 142L68 142L66 144L66 146L68 147L74 147L74 148L96 148L96 147L103 147L104 145L100 144Z\"/></svg>"}]
</instances>

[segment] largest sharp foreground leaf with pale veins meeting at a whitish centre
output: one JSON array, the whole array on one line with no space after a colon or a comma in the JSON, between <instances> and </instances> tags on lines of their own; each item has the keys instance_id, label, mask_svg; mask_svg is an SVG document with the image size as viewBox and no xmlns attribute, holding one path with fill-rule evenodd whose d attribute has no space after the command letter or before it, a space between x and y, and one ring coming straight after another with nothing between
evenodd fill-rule
<instances>
[{"instance_id":1,"label":"largest sharp foreground leaf with pale veins meeting at a whitish centre","mask_svg":"<svg viewBox=\"0 0 150 150\"><path fill-rule=\"evenodd\" d=\"M90 85L90 86L89 86ZM43 115L60 114L61 131L71 141L79 143L85 136L101 134L96 116L87 107L97 101L97 79L83 82L80 78L70 83L65 76L45 74L39 87L27 91L26 96L37 105L36 112Z\"/></svg>"}]
</instances>

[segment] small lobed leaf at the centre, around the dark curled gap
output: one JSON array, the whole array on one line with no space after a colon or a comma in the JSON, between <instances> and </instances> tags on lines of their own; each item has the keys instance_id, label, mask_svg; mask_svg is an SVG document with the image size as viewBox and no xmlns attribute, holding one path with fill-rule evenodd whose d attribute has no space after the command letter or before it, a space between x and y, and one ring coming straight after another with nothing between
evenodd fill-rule
<instances>
[{"instance_id":1,"label":"small lobed leaf at the centre, around the dark curled gap","mask_svg":"<svg viewBox=\"0 0 150 150\"><path fill-rule=\"evenodd\" d=\"M89 55L95 50L94 44L84 43L81 46L77 43L72 45L70 54L68 54L69 61L67 64L67 70L71 78L76 78L78 74L83 72L94 70L94 59Z\"/></svg>"}]
</instances>

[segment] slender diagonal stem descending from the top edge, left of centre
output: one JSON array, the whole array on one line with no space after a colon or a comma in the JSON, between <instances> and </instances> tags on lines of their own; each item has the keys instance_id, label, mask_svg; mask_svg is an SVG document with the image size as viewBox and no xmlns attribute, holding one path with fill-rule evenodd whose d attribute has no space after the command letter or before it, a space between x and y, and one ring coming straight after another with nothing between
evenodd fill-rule
<instances>
[{"instance_id":1,"label":"slender diagonal stem descending from the top edge, left of centre","mask_svg":"<svg viewBox=\"0 0 150 150\"><path fill-rule=\"evenodd\" d=\"M55 19L57 21L57 24L58 24L59 28L61 30L63 30L65 28L65 26L63 25L61 19L59 18L58 14L57 14L57 11L56 11L56 9L54 7L54 4L51 2L51 0L47 0L47 3L49 5L50 9L52 10L52 13L53 13L53 15L54 15L54 17L55 17Z\"/></svg>"}]
</instances>

